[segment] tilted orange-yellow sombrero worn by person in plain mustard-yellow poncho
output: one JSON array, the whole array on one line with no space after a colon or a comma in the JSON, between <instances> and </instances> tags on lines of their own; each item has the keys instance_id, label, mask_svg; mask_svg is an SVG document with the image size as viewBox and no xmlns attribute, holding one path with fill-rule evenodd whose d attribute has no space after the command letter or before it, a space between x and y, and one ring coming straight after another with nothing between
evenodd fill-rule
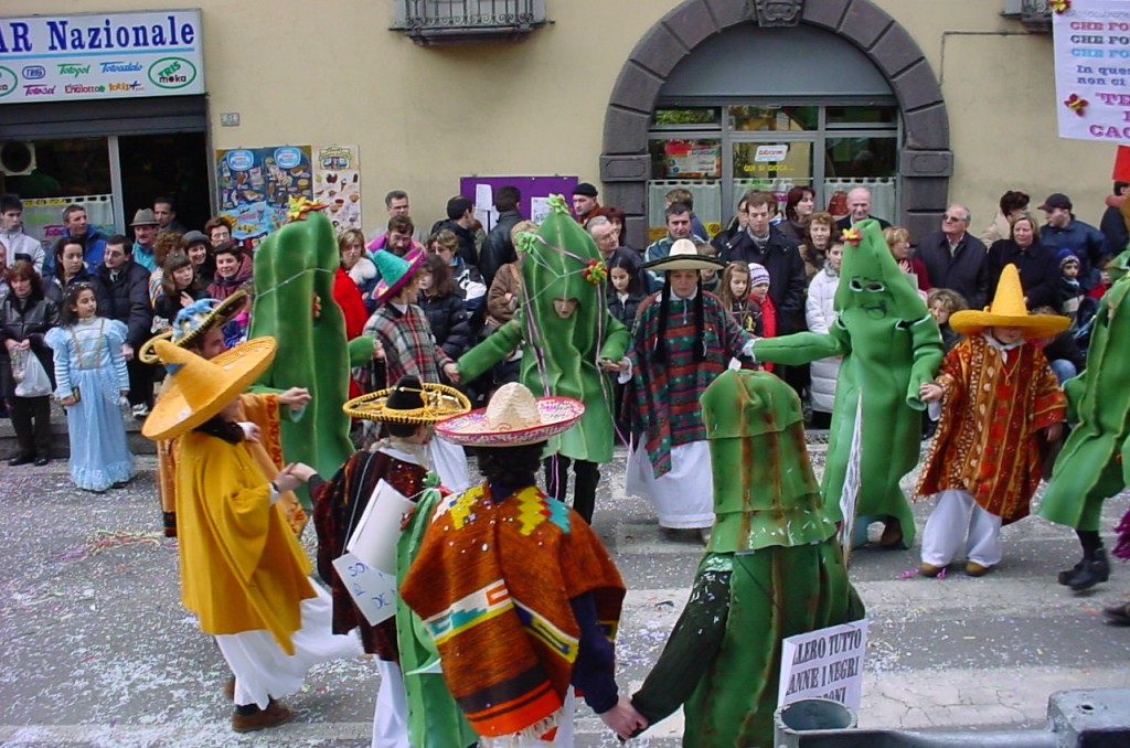
<instances>
[{"instance_id":1,"label":"tilted orange-yellow sombrero worn by person in plain mustard-yellow poncho","mask_svg":"<svg viewBox=\"0 0 1130 748\"><path fill-rule=\"evenodd\" d=\"M167 340L154 341L172 386L141 427L154 441L180 436L205 423L254 382L275 360L275 338L253 338L206 360Z\"/></svg>"}]
</instances>

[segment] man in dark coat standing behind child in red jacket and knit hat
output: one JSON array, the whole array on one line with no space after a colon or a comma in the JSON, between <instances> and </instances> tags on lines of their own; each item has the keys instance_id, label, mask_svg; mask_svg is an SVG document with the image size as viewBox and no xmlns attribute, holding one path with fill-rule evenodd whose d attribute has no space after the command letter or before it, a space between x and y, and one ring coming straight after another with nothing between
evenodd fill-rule
<instances>
[{"instance_id":1,"label":"man in dark coat standing behind child in red jacket and knit hat","mask_svg":"<svg viewBox=\"0 0 1130 748\"><path fill-rule=\"evenodd\" d=\"M746 231L737 233L722 247L727 262L756 262L770 272L770 298L776 311L777 334L789 334L803 329L805 318L805 260L797 243L770 224L776 212L776 197L770 192L751 190L741 198L746 214Z\"/></svg>"}]
</instances>

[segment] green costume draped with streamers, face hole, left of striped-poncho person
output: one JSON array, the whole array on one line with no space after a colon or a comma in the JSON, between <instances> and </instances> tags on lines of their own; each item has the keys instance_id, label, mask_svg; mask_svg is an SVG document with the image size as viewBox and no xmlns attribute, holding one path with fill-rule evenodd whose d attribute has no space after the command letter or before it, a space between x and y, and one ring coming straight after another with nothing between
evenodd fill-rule
<instances>
[{"instance_id":1,"label":"green costume draped with streamers, face hole, left of striped-poncho person","mask_svg":"<svg viewBox=\"0 0 1130 748\"><path fill-rule=\"evenodd\" d=\"M605 264L592 237L570 217L562 195L550 195L549 207L537 235L525 234L520 242L522 305L510 322L460 357L459 373L463 381L473 380L522 346L522 384L537 395L584 402L584 416L550 440L546 454L608 462L612 385L599 362L624 358L631 334L608 311ZM554 311L555 298L575 298L576 311L563 319Z\"/></svg>"}]
</instances>

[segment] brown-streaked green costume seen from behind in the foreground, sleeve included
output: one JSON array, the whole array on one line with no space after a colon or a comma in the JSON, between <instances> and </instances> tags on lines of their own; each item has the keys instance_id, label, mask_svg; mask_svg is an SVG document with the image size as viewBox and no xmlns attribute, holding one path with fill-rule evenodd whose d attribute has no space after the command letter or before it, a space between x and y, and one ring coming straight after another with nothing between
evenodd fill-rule
<instances>
[{"instance_id":1,"label":"brown-streaked green costume seen from behind in the foreground, sleeve included","mask_svg":"<svg viewBox=\"0 0 1130 748\"><path fill-rule=\"evenodd\" d=\"M808 461L800 399L766 372L703 393L714 532L690 599L632 703L654 723L684 705L683 745L773 743L781 641L863 617Z\"/></svg>"}]
</instances>

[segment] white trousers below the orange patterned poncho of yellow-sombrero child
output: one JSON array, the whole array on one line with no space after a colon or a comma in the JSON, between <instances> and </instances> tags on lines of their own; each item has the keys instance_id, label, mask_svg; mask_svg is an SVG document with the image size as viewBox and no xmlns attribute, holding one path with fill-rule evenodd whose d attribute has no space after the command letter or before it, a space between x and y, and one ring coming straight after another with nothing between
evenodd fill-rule
<instances>
[{"instance_id":1,"label":"white trousers below the orange patterned poncho of yellow-sombrero child","mask_svg":"<svg viewBox=\"0 0 1130 748\"><path fill-rule=\"evenodd\" d=\"M937 495L938 504L922 531L922 563L946 566L965 543L965 559L982 566L1000 563L1001 520L981 508L965 490L947 489Z\"/></svg>"}]
</instances>

